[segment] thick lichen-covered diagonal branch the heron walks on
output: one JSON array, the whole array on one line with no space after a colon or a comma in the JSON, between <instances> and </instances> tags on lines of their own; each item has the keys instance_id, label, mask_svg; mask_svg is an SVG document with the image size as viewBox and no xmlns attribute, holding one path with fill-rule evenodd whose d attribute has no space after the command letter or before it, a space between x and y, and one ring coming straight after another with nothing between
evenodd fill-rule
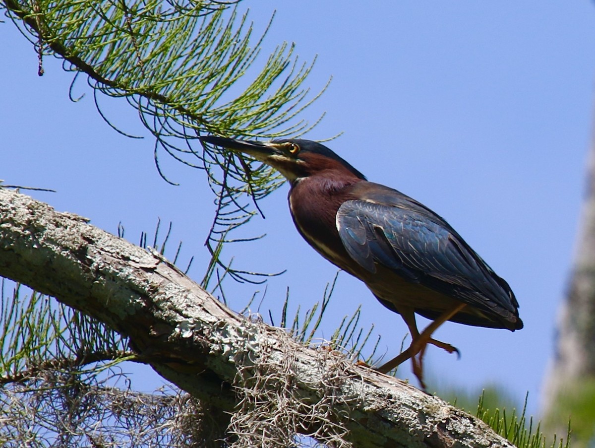
<instances>
[{"instance_id":1,"label":"thick lichen-covered diagonal branch the heron walks on","mask_svg":"<svg viewBox=\"0 0 595 448\"><path fill-rule=\"evenodd\" d=\"M336 445L512 447L437 397L236 315L158 253L88 222L0 189L0 275L129 336L139 360L199 399L251 410L232 418L238 440L286 416L286 431Z\"/></svg>"}]
</instances>

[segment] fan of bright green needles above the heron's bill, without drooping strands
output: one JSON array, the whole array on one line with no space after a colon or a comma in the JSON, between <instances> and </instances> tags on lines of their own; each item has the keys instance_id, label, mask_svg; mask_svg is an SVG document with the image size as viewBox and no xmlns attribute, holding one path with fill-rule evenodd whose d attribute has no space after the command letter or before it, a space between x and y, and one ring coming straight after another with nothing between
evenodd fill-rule
<instances>
[{"instance_id":1,"label":"fan of bright green needles above the heron's bill, without drooping strands","mask_svg":"<svg viewBox=\"0 0 595 448\"><path fill-rule=\"evenodd\" d=\"M310 102L302 83L312 65L282 43L255 69L266 30L250 46L248 14L238 17L230 3L4 1L35 45L40 71L44 55L63 58L96 94L126 98L162 149L180 158L199 156L183 144L199 132L271 138L308 129L297 115Z\"/></svg>"}]
</instances>

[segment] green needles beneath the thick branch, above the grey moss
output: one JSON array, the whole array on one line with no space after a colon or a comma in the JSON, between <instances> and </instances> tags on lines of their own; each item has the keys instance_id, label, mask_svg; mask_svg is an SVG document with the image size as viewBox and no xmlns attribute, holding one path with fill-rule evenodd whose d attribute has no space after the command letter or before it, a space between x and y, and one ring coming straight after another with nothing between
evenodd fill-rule
<instances>
[{"instance_id":1,"label":"green needles beneath the thick branch, above the grey moss","mask_svg":"<svg viewBox=\"0 0 595 448\"><path fill-rule=\"evenodd\" d=\"M120 334L45 295L12 294L0 280L0 386L23 382L47 369L95 375L133 357ZM105 362L108 362L107 364Z\"/></svg>"}]
</instances>

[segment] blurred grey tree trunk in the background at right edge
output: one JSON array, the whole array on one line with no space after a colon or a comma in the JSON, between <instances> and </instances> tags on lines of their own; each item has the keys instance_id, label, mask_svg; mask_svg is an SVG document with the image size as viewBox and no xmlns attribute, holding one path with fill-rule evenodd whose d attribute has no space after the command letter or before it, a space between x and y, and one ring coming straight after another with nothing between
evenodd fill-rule
<instances>
[{"instance_id":1,"label":"blurred grey tree trunk in the background at right edge","mask_svg":"<svg viewBox=\"0 0 595 448\"><path fill-rule=\"evenodd\" d=\"M556 351L543 392L544 424L572 447L595 433L595 143L587 164L587 191L566 300L559 313Z\"/></svg>"}]
</instances>

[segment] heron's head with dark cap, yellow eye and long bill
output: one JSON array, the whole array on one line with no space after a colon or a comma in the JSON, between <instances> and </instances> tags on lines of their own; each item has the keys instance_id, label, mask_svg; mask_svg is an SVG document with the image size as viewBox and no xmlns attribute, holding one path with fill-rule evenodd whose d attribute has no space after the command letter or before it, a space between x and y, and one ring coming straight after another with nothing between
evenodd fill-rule
<instances>
[{"instance_id":1,"label":"heron's head with dark cap, yellow eye and long bill","mask_svg":"<svg viewBox=\"0 0 595 448\"><path fill-rule=\"evenodd\" d=\"M290 182L325 170L339 171L343 176L365 179L364 175L324 145L311 140L280 139L271 142L236 140L216 136L201 141L228 150L245 153L278 170Z\"/></svg>"}]
</instances>

